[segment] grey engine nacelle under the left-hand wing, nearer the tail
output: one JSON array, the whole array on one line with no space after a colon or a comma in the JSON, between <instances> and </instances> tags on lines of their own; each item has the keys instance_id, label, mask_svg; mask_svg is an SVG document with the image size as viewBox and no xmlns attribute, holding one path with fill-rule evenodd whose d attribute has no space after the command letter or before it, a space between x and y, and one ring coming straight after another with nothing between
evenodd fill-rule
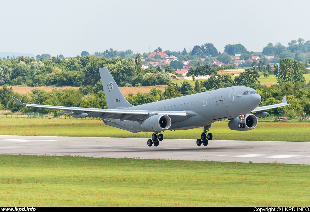
<instances>
[{"instance_id":1,"label":"grey engine nacelle under the left-hand wing, nearer the tail","mask_svg":"<svg viewBox=\"0 0 310 212\"><path fill-rule=\"evenodd\" d=\"M171 118L167 115L154 115L142 122L141 127L144 131L160 132L168 130L171 126Z\"/></svg>"}]
</instances>

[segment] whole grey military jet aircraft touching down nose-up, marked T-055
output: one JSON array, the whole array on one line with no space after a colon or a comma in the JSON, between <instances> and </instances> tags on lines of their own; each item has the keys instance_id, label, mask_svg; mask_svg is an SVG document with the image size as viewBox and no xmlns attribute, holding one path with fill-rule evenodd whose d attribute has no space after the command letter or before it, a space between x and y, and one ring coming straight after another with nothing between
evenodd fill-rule
<instances>
[{"instance_id":1,"label":"whole grey military jet aircraft touching down nose-up, marked T-055","mask_svg":"<svg viewBox=\"0 0 310 212\"><path fill-rule=\"evenodd\" d=\"M257 117L268 114L264 110L288 105L284 96L279 104L258 107L261 97L257 91L245 86L232 86L134 106L125 99L108 68L99 68L99 73L108 109L25 104L12 98L17 104L28 107L67 111L63 113L72 114L74 118L100 117L105 125L132 133L152 132L152 139L147 141L149 147L159 145L164 138L161 132L165 130L197 127L203 127L203 132L196 143L206 146L213 138L207 131L215 121L230 120L228 127L231 130L253 130L258 124Z\"/></svg>"}]
</instances>

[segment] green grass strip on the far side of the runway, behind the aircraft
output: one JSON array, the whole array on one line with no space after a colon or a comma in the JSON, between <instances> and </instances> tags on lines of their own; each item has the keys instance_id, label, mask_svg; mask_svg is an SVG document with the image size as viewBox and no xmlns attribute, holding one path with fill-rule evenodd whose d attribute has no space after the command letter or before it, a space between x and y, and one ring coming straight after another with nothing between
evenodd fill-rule
<instances>
[{"instance_id":1,"label":"green grass strip on the far side of the runway, behind the aircraft","mask_svg":"<svg viewBox=\"0 0 310 212\"><path fill-rule=\"evenodd\" d=\"M268 122L259 120L254 130L235 131L228 128L228 121L217 121L210 131L217 140L303 141L309 142L309 122ZM197 139L202 127L192 130L166 130L166 139ZM150 138L151 134L131 133L106 126L96 119L26 119L0 118L0 135L86 136Z\"/></svg>"}]
</instances>

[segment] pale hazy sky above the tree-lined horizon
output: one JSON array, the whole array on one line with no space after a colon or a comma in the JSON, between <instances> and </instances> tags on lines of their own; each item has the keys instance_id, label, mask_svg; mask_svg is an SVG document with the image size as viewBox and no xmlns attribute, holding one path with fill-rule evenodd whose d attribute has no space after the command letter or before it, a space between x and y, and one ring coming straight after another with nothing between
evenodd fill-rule
<instances>
[{"instance_id":1,"label":"pale hazy sky above the tree-lined horizon","mask_svg":"<svg viewBox=\"0 0 310 212\"><path fill-rule=\"evenodd\" d=\"M310 40L310 1L1 1L0 52L187 51Z\"/></svg>"}]
</instances>

